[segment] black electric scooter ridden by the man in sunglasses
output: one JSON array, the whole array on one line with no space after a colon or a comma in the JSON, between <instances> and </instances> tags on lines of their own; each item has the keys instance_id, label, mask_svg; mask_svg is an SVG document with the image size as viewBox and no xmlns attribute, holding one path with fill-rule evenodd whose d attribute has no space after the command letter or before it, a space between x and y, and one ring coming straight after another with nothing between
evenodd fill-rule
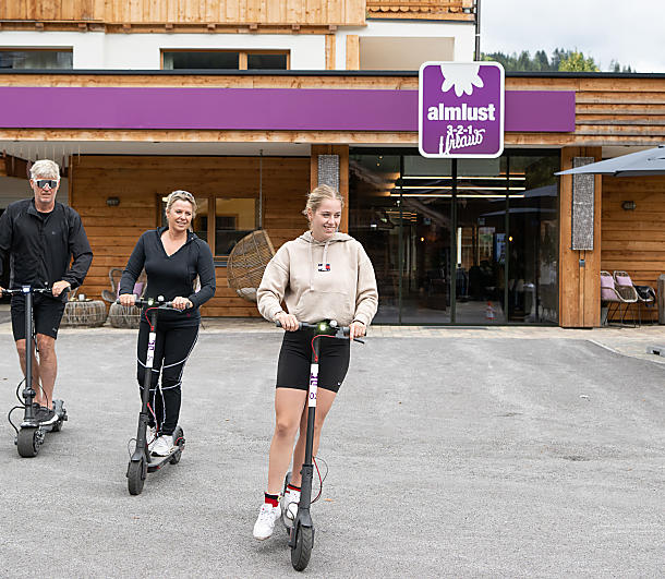
<instances>
[{"instance_id":1,"label":"black electric scooter ridden by the man in sunglasses","mask_svg":"<svg viewBox=\"0 0 665 579\"><path fill-rule=\"evenodd\" d=\"M2 293L8 295L25 295L25 385L21 396L19 397L19 387L16 387L16 398L21 406L15 406L9 412L8 419L12 427L16 431L14 444L19 450L19 455L24 458L35 457L39 453L39 448L46 439L46 433L59 432L62 429L62 423L68 420L66 410L62 400L52 401L53 417L44 422L39 422L35 415L36 408L33 406L35 395L33 388L33 348L36 339L33 331L33 294L49 293L52 294L51 288L33 288L32 286L22 286L20 289L2 289ZM23 408L23 421L19 429L12 422L12 412Z\"/></svg>"}]
</instances>

